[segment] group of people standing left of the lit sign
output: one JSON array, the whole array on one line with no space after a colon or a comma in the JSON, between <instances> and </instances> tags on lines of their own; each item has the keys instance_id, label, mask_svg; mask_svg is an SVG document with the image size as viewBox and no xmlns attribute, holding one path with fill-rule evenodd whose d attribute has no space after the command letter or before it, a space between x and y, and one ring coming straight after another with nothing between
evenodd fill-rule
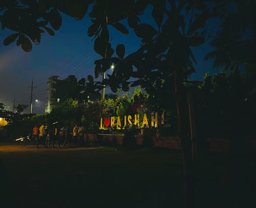
<instances>
[{"instance_id":1,"label":"group of people standing left of the lit sign","mask_svg":"<svg viewBox=\"0 0 256 208\"><path fill-rule=\"evenodd\" d=\"M83 142L86 141L86 128L78 124L74 126L73 132L70 131L70 126L60 128L57 123L52 126L42 123L39 128L35 124L32 132L33 140L37 142L37 148L39 144L44 145L45 148L54 148L57 141L58 147L62 148L66 145L70 145L71 138L74 147L82 146ZM73 135L72 137L71 134Z\"/></svg>"}]
</instances>

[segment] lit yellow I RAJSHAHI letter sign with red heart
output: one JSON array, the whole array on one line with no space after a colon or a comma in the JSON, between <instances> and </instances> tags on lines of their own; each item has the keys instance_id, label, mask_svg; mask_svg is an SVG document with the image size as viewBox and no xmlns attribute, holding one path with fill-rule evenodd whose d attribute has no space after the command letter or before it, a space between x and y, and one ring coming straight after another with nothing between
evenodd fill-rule
<instances>
[{"instance_id":1,"label":"lit yellow I RAJSHAHI letter sign with red heart","mask_svg":"<svg viewBox=\"0 0 256 208\"><path fill-rule=\"evenodd\" d=\"M158 123L161 122L161 124L164 123L164 113L161 114L161 117L158 117L157 112L152 112L151 114L144 114L143 118L140 118L139 114L135 114L134 116L128 115L124 116L123 119L120 119L120 116L111 116L111 117L104 117L100 118L100 129L106 129L109 126L115 127L117 129L121 129L122 127L125 127L128 125L136 125L139 128L144 127L157 127Z\"/></svg>"}]
</instances>

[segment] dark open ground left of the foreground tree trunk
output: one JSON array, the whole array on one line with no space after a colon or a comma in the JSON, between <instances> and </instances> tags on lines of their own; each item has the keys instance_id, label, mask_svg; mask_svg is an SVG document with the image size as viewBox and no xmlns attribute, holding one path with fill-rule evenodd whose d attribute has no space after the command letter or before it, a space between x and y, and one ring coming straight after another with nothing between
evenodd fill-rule
<instances>
[{"instance_id":1,"label":"dark open ground left of the foreground tree trunk","mask_svg":"<svg viewBox=\"0 0 256 208\"><path fill-rule=\"evenodd\" d=\"M182 204L179 152L6 149L1 153L5 207L163 207L170 200L175 207Z\"/></svg>"}]
</instances>

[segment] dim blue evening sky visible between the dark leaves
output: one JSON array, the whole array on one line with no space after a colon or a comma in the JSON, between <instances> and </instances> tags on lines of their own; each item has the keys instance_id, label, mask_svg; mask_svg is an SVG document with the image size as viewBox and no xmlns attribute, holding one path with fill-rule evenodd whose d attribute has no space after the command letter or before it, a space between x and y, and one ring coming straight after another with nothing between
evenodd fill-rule
<instances>
[{"instance_id":1,"label":"dim blue evening sky visible between the dark leaves","mask_svg":"<svg viewBox=\"0 0 256 208\"><path fill-rule=\"evenodd\" d=\"M89 9L90 11L90 9ZM155 25L150 18L150 8L147 8L141 20L144 23ZM12 111L15 97L16 103L30 103L30 88L33 79L33 113L44 113L47 97L47 79L51 75L58 75L59 79L65 79L74 74L78 80L94 75L94 61L99 57L93 49L92 38L87 36L90 26L90 18L87 15L82 20L75 20L69 16L62 15L62 25L59 31L52 37L46 33L42 34L40 45L34 45L30 53L26 53L16 43L4 46L3 41L12 32L8 29L0 31L0 102L7 105L7 110ZM122 23L126 24L126 20ZM215 21L208 22L208 27L216 26ZM127 27L129 29L129 27ZM140 46L140 39L130 30L129 35L123 35L113 27L109 27L112 47L123 43L126 56ZM205 72L216 73L212 69L212 60L204 61L204 56L212 50L209 41L200 47L192 48L198 65L195 66L197 73L191 75L191 80L202 80ZM108 72L107 72L108 73ZM101 77L99 78L101 80ZM106 93L110 93L106 90ZM38 102L35 102L38 99ZM29 108L25 113L29 112Z\"/></svg>"}]
</instances>

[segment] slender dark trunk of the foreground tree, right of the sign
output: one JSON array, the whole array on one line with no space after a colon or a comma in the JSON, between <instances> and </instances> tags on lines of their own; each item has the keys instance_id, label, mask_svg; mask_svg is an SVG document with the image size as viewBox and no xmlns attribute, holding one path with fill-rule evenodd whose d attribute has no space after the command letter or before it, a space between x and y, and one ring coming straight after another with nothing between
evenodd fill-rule
<instances>
[{"instance_id":1,"label":"slender dark trunk of the foreground tree, right of the sign","mask_svg":"<svg viewBox=\"0 0 256 208\"><path fill-rule=\"evenodd\" d=\"M180 145L183 158L183 175L184 175L184 200L186 208L194 208L196 183L193 174L193 160L190 148L189 138L189 117L186 89L183 85L182 68L175 68L175 96L178 116Z\"/></svg>"}]
</instances>

